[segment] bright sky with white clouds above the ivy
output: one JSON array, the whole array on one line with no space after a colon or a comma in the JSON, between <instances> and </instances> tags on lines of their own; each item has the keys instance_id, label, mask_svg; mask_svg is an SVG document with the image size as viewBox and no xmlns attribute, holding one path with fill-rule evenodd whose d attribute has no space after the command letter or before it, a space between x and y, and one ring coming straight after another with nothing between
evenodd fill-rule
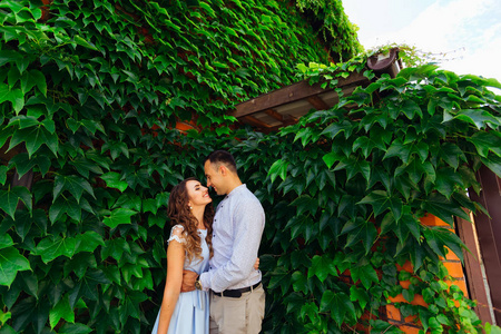
<instances>
[{"instance_id":1,"label":"bright sky with white clouds above the ivy","mask_svg":"<svg viewBox=\"0 0 501 334\"><path fill-rule=\"evenodd\" d=\"M501 82L500 0L343 0L366 49L405 43L442 69Z\"/></svg>"}]
</instances>

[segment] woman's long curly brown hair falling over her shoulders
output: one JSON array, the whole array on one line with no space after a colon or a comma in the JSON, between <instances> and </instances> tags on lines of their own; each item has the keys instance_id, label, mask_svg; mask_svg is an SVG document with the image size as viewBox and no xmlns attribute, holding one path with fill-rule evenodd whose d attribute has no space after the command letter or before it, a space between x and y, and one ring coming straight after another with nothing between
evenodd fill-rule
<instances>
[{"instance_id":1,"label":"woman's long curly brown hair falling over her shoulders","mask_svg":"<svg viewBox=\"0 0 501 334\"><path fill-rule=\"evenodd\" d=\"M169 202L167 206L167 216L170 218L170 225L181 225L184 227L183 235L186 239L185 250L188 262L193 258L203 258L202 254L202 240L197 230L198 220L191 214L188 208L188 190L186 189L186 183L189 180L199 181L195 177L187 178L180 181L177 186L173 188L169 196ZM204 210L204 226L207 228L207 246L209 248L209 258L213 257L213 219L214 219L214 207L209 203Z\"/></svg>"}]
</instances>

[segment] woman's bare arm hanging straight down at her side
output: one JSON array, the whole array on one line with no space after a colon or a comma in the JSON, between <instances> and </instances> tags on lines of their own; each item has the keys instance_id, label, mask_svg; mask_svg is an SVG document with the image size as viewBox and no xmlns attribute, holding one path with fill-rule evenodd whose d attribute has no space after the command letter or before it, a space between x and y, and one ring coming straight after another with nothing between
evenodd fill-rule
<instances>
[{"instance_id":1,"label":"woman's bare arm hanging straight down at her side","mask_svg":"<svg viewBox=\"0 0 501 334\"><path fill-rule=\"evenodd\" d=\"M180 233L180 232L179 232ZM180 236L180 235L179 235ZM157 334L167 334L170 317L179 298L183 282L183 265L185 263L184 244L170 240L167 247L167 279L165 282L164 299L161 301L160 321Z\"/></svg>"}]
</instances>

